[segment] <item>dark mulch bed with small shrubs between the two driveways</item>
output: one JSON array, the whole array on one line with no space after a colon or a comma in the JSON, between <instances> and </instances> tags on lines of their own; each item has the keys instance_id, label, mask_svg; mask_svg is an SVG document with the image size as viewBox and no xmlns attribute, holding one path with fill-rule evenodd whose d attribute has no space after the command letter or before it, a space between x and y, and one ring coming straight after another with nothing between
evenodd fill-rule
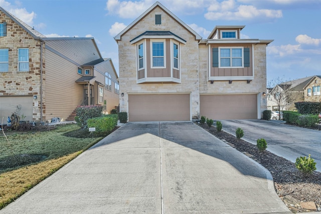
<instances>
[{"instance_id":1,"label":"dark mulch bed with small shrubs between the two driveways","mask_svg":"<svg viewBox=\"0 0 321 214\"><path fill-rule=\"evenodd\" d=\"M294 163L283 157L269 151L259 152L256 145L242 139L238 140L224 131L218 132L214 126L211 128L207 124L199 124L199 126L269 170L274 180L276 193L293 213L312 211L306 209L302 203L308 201L315 204L316 210L314 211L321 211L320 172L314 171L311 176L304 177Z\"/></svg>"}]
</instances>

